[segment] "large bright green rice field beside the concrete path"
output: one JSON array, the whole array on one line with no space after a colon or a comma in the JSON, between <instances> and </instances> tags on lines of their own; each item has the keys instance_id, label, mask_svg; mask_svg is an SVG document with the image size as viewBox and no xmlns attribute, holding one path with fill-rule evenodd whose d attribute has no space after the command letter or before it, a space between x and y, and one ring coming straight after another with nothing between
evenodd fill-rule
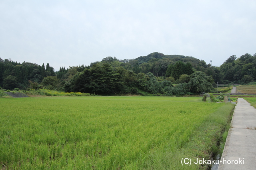
<instances>
[{"instance_id":1,"label":"large bright green rice field beside the concrete path","mask_svg":"<svg viewBox=\"0 0 256 170\"><path fill-rule=\"evenodd\" d=\"M217 153L233 109L185 97L0 98L0 169L207 169L181 160Z\"/></svg>"}]
</instances>

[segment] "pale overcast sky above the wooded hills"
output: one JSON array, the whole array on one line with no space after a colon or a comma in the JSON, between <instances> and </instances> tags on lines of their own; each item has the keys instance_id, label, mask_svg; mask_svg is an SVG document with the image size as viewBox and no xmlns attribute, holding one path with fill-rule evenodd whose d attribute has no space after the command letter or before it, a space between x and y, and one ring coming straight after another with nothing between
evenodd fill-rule
<instances>
[{"instance_id":1,"label":"pale overcast sky above the wooded hills","mask_svg":"<svg viewBox=\"0 0 256 170\"><path fill-rule=\"evenodd\" d=\"M0 57L90 65L153 52L212 60L256 53L256 0L0 0Z\"/></svg>"}]
</instances>

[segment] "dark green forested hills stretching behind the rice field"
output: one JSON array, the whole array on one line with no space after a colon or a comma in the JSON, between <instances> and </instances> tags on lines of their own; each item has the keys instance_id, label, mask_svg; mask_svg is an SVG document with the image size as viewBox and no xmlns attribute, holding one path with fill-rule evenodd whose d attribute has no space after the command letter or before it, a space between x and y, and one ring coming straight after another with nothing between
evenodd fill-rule
<instances>
[{"instance_id":1,"label":"dark green forested hills stretching behind the rice field","mask_svg":"<svg viewBox=\"0 0 256 170\"><path fill-rule=\"evenodd\" d=\"M202 82L195 77L201 78ZM0 86L10 90L48 88L96 94L143 91L181 95L210 91L216 82L248 83L255 78L256 54L245 54L239 58L233 55L220 67L215 67L194 57L155 52L136 59L106 57L90 66L61 67L58 71L49 63L45 67L44 64L17 63L0 58ZM204 86L197 89L192 86L192 81ZM172 84L177 85L174 88Z\"/></svg>"}]
</instances>

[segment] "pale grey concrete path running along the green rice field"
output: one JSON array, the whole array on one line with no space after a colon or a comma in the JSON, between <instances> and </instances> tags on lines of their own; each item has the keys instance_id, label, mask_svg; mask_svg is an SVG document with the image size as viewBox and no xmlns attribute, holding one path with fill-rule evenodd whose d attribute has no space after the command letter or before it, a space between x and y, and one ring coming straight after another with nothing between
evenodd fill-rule
<instances>
[{"instance_id":1,"label":"pale grey concrete path running along the green rice field","mask_svg":"<svg viewBox=\"0 0 256 170\"><path fill-rule=\"evenodd\" d=\"M239 98L218 170L256 170L256 129L254 128L256 128L256 109L246 100ZM233 164L232 160L234 160Z\"/></svg>"}]
</instances>

